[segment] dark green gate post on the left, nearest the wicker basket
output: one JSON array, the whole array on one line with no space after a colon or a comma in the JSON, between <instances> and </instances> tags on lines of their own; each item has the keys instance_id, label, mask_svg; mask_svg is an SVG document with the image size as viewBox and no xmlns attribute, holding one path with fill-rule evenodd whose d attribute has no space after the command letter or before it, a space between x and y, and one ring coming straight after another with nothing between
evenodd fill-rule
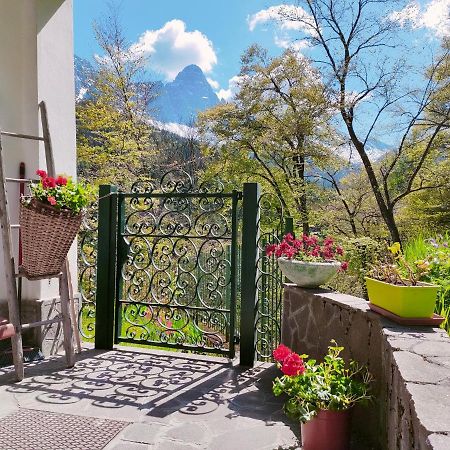
<instances>
[{"instance_id":1,"label":"dark green gate post on the left, nearest the wicker basket","mask_svg":"<svg viewBox=\"0 0 450 450\"><path fill-rule=\"evenodd\" d=\"M95 348L114 345L114 297L117 253L117 187L101 185L98 202Z\"/></svg>"}]
</instances>

